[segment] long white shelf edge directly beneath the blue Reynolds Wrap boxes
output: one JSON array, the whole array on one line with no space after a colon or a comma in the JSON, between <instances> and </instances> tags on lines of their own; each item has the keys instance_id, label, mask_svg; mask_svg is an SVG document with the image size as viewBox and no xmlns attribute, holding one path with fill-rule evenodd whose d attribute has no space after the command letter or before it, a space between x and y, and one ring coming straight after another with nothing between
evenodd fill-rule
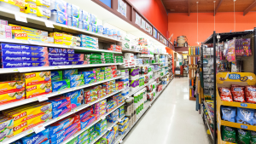
<instances>
[{"instance_id":1,"label":"long white shelf edge directly beneath the blue Reynolds Wrap boxes","mask_svg":"<svg viewBox=\"0 0 256 144\"><path fill-rule=\"evenodd\" d=\"M124 63L109 63L109 64L88 64L88 65L69 65L69 66L67 65L67 66L38 66L38 67L20 67L20 68L1 68L0 74L24 72L24 69L26 69L26 72L37 72L37 71L85 68L85 67L96 67L96 66L112 66L112 65L123 65L123 64Z\"/></svg>"}]
</instances>

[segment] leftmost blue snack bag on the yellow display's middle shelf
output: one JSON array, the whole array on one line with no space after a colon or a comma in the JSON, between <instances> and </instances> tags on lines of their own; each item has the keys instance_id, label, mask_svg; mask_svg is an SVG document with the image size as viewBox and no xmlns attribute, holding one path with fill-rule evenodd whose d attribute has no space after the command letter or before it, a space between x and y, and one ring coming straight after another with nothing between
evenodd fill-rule
<instances>
[{"instance_id":1,"label":"leftmost blue snack bag on the yellow display's middle shelf","mask_svg":"<svg viewBox=\"0 0 256 144\"><path fill-rule=\"evenodd\" d=\"M223 120L236 123L236 107L220 107Z\"/></svg>"}]
</instances>

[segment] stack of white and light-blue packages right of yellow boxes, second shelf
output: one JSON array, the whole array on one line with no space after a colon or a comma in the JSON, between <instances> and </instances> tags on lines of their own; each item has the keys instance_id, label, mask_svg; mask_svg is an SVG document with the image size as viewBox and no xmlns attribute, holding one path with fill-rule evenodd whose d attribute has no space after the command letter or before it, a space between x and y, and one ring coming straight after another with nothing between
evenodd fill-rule
<instances>
[{"instance_id":1,"label":"stack of white and light-blue packages right of yellow boxes, second shelf","mask_svg":"<svg viewBox=\"0 0 256 144\"><path fill-rule=\"evenodd\" d=\"M99 49L98 38L86 36L83 34L80 34L79 37L81 38L81 44L80 44L81 47L90 48L90 49Z\"/></svg>"}]
</instances>

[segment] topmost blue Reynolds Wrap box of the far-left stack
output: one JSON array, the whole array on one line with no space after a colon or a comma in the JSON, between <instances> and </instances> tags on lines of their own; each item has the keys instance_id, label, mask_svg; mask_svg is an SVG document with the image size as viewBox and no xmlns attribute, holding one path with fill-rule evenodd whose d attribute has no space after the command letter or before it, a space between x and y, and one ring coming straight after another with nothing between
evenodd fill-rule
<instances>
[{"instance_id":1,"label":"topmost blue Reynolds Wrap box of the far-left stack","mask_svg":"<svg viewBox=\"0 0 256 144\"><path fill-rule=\"evenodd\" d=\"M41 51L46 52L47 47L33 46L33 45L21 45L13 43L1 43L0 49L5 50L32 50L32 51Z\"/></svg>"}]
</instances>

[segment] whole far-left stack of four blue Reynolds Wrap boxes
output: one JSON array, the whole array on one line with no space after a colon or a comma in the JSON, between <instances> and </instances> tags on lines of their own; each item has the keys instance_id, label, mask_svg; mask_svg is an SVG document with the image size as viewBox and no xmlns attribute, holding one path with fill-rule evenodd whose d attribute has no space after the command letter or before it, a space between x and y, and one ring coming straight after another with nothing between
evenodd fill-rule
<instances>
[{"instance_id":1,"label":"whole far-left stack of four blue Reynolds Wrap boxes","mask_svg":"<svg viewBox=\"0 0 256 144\"><path fill-rule=\"evenodd\" d=\"M49 66L47 47L1 43L2 68Z\"/></svg>"}]
</instances>

